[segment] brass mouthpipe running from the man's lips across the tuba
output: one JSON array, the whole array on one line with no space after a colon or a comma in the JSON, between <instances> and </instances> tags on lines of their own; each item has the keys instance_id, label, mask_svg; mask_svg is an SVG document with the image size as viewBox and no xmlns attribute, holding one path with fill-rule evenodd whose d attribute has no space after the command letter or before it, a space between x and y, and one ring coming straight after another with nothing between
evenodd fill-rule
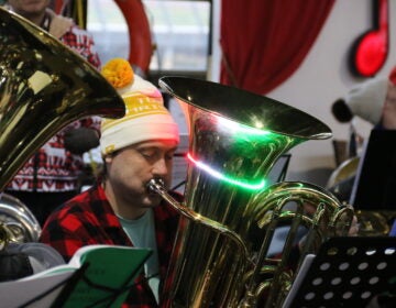
<instances>
[{"instance_id":1,"label":"brass mouthpipe running from the man's lips across the tuba","mask_svg":"<svg viewBox=\"0 0 396 308\"><path fill-rule=\"evenodd\" d=\"M189 220L191 220L194 222L199 222L199 223L208 227L212 231L216 231L217 233L220 233L220 234L229 238L230 240L232 240L238 245L238 248L240 249L243 260L245 260L246 262L250 262L248 248L244 244L241 237L238 235L234 231L230 230L226 226L223 226L223 224L221 224L221 223L219 223L219 222L217 222L217 221L215 221L215 220L212 220L210 218L207 218L205 216L201 216L201 215L195 212L194 210L187 208L183 204L177 202L166 191L166 189L162 186L161 182L157 180L157 179L152 178L148 182L148 189L157 193L169 206L172 206L178 213L183 215L187 219L189 219Z\"/></svg>"}]
</instances>

